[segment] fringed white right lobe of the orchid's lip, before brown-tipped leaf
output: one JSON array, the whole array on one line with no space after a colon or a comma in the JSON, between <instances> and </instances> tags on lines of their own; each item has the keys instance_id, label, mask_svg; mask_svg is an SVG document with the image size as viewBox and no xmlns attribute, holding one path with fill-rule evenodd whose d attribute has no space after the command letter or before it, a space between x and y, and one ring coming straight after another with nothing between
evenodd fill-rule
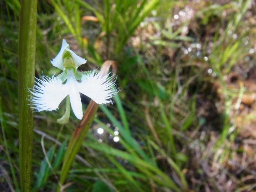
<instances>
[{"instance_id":1,"label":"fringed white right lobe of the orchid's lip, before brown-tipped leaf","mask_svg":"<svg viewBox=\"0 0 256 192\"><path fill-rule=\"evenodd\" d=\"M110 98L119 90L116 89L116 78L111 80L112 76L108 75L102 76L101 72L95 73L95 70L87 72L82 76L77 89L98 104L113 103Z\"/></svg>"}]
</instances>

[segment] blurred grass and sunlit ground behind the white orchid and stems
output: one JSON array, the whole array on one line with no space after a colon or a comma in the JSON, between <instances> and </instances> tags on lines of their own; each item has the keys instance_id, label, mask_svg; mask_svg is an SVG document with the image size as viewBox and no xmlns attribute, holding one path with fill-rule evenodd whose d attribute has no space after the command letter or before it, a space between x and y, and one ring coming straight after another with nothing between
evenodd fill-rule
<instances>
[{"instance_id":1,"label":"blurred grass and sunlit ground behind the white orchid and stems","mask_svg":"<svg viewBox=\"0 0 256 192\"><path fill-rule=\"evenodd\" d=\"M20 191L20 2L0 9L0 191ZM50 60L64 38L88 60L80 70L115 60L122 89L99 107L64 190L256 191L255 12L253 0L38 1L35 76L60 73ZM72 113L58 124L64 111L34 113L33 191L58 186L78 124Z\"/></svg>"}]
</instances>

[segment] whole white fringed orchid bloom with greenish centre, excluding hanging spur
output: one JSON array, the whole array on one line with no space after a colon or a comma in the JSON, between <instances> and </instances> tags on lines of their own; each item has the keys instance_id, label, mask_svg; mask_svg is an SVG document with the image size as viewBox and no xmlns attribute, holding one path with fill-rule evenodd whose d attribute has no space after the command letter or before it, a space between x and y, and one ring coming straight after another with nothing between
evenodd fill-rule
<instances>
[{"instance_id":1,"label":"whole white fringed orchid bloom with greenish centre, excluding hanging spur","mask_svg":"<svg viewBox=\"0 0 256 192\"><path fill-rule=\"evenodd\" d=\"M83 109L80 93L98 104L107 104L113 103L110 98L119 92L116 89L116 78L111 80L113 76L109 76L109 74L103 76L96 70L77 71L77 68L86 63L86 60L71 51L65 39L62 41L60 52L51 63L60 68L63 73L56 77L52 76L52 78L42 76L42 80L37 79L38 82L33 89L29 89L32 94L29 99L33 105L32 108L38 112L58 109L60 102L69 96L75 116L82 119Z\"/></svg>"}]
</instances>

